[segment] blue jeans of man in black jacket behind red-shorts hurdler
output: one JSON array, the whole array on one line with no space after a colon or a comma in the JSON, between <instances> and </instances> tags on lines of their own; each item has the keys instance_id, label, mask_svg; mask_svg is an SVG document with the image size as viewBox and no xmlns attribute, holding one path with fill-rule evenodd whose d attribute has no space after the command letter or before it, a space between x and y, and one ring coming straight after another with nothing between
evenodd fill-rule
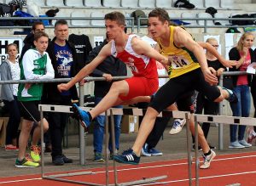
<instances>
[{"instance_id":1,"label":"blue jeans of man in black jacket behind red-shorts hurdler","mask_svg":"<svg viewBox=\"0 0 256 186\"><path fill-rule=\"evenodd\" d=\"M96 97L95 104L98 104L102 98ZM123 108L122 105L114 106L113 108ZM121 132L121 119L122 116L113 116L114 121L114 137L115 137L115 148L119 149L119 137ZM110 125L109 125L110 126ZM105 116L97 116L95 119L95 126L93 129L93 146L96 153L102 153L103 137L105 132ZM112 136L109 135L108 149L113 152L112 148Z\"/></svg>"}]
</instances>

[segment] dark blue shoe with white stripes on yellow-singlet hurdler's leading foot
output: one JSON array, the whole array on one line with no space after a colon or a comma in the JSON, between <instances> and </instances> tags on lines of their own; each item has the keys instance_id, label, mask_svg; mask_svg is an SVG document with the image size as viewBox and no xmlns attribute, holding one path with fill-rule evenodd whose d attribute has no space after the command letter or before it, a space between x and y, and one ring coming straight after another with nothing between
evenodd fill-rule
<instances>
[{"instance_id":1,"label":"dark blue shoe with white stripes on yellow-singlet hurdler's leading foot","mask_svg":"<svg viewBox=\"0 0 256 186\"><path fill-rule=\"evenodd\" d=\"M132 149L125 150L122 155L113 155L113 160L119 163L138 165L141 157L135 155Z\"/></svg>"}]
</instances>

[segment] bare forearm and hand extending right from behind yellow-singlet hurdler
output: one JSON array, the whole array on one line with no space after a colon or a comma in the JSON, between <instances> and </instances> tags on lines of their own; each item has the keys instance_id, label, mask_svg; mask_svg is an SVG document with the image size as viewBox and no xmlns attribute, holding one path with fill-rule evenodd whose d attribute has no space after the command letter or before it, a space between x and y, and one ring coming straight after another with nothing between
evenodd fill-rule
<instances>
[{"instance_id":1,"label":"bare forearm and hand extending right from behind yellow-singlet hurdler","mask_svg":"<svg viewBox=\"0 0 256 186\"><path fill-rule=\"evenodd\" d=\"M214 55L219 62L224 65L225 67L232 68L234 65L237 64L236 60L226 60L224 57L218 53L218 50L212 47L212 45L208 42L198 42L202 48L207 49L212 55Z\"/></svg>"}]
</instances>

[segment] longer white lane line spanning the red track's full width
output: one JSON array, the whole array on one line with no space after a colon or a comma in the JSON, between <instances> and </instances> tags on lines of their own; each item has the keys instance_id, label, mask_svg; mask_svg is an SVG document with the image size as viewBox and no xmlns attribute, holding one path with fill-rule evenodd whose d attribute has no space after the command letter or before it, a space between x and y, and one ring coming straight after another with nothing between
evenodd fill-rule
<instances>
[{"instance_id":1,"label":"longer white lane line spanning the red track's full width","mask_svg":"<svg viewBox=\"0 0 256 186\"><path fill-rule=\"evenodd\" d=\"M229 160L235 160L235 159L242 159L242 158L251 158L251 157L256 157L256 155L243 155L243 156L237 156L237 157L230 157L230 158L220 158L217 160L213 160L213 161L229 161ZM177 160L172 160L172 161L177 161ZM167 162L167 161L159 161L160 162ZM146 162L143 164L152 164L155 162ZM195 161L193 161L193 163L195 163ZM159 166L143 166L143 167L134 167L134 168L124 168L124 169L118 169L118 172L123 172L123 171L131 171L131 170L139 170L139 169L148 169L148 168L158 168L158 167L165 167L165 166L183 166L183 165L188 165L188 162L183 162L183 163L173 163L173 164L165 164L165 165L159 165ZM75 171L75 170L74 170ZM73 171L68 171L68 172L73 172ZM113 170L108 171L108 172L113 172ZM99 171L99 172L93 172L94 174L97 173L106 173L105 171ZM26 175L23 175L26 176ZM23 182L23 181L28 181L28 180L38 180L38 179L42 179L42 178L31 178L31 179L20 179L20 180L13 180L13 181L5 181L5 182L0 182L0 184L2 183L15 183L15 182ZM188 179L184 179L184 181L186 181Z\"/></svg>"}]
</instances>

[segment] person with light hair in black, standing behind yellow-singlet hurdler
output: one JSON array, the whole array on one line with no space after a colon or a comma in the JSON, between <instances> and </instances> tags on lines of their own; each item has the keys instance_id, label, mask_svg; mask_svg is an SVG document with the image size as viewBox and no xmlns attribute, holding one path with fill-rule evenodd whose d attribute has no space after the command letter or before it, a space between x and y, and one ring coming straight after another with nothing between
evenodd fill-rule
<instances>
[{"instance_id":1,"label":"person with light hair in black, standing behind yellow-singlet hurdler","mask_svg":"<svg viewBox=\"0 0 256 186\"><path fill-rule=\"evenodd\" d=\"M218 49L218 41L211 37L208 38L207 41L209 44L212 45L215 49ZM211 53L209 50L207 50L207 64L209 68L213 68L216 71L216 76L221 76L221 74L224 71L224 65L222 65L219 60ZM198 93L197 99L196 99L196 111L195 114L202 114L202 111L204 110L205 115L218 115L218 103L212 102L209 99L205 97L204 93ZM207 138L208 132L210 129L210 123L204 122L201 126L205 137ZM195 143L195 138L193 137L193 143ZM212 146L209 144L210 149L216 149L215 146ZM195 144L193 145L193 149L195 149ZM201 147L200 147L201 149Z\"/></svg>"}]
</instances>

